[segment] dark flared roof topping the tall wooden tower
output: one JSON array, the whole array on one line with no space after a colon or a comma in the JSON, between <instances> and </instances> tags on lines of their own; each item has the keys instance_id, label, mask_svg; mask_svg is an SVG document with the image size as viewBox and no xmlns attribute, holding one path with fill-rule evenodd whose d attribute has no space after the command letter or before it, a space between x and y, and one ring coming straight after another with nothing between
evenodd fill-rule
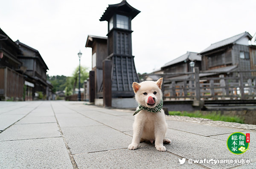
<instances>
[{"instance_id":1,"label":"dark flared roof topping the tall wooden tower","mask_svg":"<svg viewBox=\"0 0 256 169\"><path fill-rule=\"evenodd\" d=\"M137 16L140 13L139 10L132 7L126 0L122 0L121 3L108 5L108 8L105 10L102 17L99 19L100 21L109 21L113 14L126 14L131 16L131 19Z\"/></svg>"}]
</instances>

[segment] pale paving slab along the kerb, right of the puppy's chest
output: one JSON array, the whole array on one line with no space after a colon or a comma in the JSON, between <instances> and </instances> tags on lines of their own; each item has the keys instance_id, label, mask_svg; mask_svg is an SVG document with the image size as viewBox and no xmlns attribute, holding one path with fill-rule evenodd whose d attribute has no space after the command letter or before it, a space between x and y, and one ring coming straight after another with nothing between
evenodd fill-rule
<instances>
[{"instance_id":1,"label":"pale paving slab along the kerb, right of the puppy's chest","mask_svg":"<svg viewBox=\"0 0 256 169\"><path fill-rule=\"evenodd\" d=\"M181 130L198 135L211 136L233 132L240 132L241 129L203 125L201 123L190 123L184 121L167 120L168 128Z\"/></svg>"}]
</instances>

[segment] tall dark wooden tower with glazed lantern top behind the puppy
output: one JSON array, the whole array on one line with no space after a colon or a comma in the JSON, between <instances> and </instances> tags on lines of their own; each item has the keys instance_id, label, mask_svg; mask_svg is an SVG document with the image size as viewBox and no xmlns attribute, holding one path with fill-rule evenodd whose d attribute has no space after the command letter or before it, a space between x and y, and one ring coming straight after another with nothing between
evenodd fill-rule
<instances>
[{"instance_id":1,"label":"tall dark wooden tower with glazed lantern top behind the puppy","mask_svg":"<svg viewBox=\"0 0 256 169\"><path fill-rule=\"evenodd\" d=\"M133 82L140 82L131 49L131 20L140 11L126 0L109 5L100 21L108 21L108 57L112 61L112 97L133 97Z\"/></svg>"}]
</instances>

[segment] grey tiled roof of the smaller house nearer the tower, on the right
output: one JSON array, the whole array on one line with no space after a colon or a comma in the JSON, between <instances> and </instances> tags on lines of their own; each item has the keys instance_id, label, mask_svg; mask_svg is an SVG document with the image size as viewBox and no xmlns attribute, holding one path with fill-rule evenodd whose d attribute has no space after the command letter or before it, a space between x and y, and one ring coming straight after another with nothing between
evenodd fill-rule
<instances>
[{"instance_id":1,"label":"grey tiled roof of the smaller house nearer the tower, on the right","mask_svg":"<svg viewBox=\"0 0 256 169\"><path fill-rule=\"evenodd\" d=\"M182 56L166 63L165 65L163 65L163 67L166 67L166 66L170 66L170 65L174 65L175 63L179 63L179 62L183 62L185 60L199 60L201 61L202 58L201 58L201 55L196 53L196 52L186 52L186 54L183 54Z\"/></svg>"}]
</instances>

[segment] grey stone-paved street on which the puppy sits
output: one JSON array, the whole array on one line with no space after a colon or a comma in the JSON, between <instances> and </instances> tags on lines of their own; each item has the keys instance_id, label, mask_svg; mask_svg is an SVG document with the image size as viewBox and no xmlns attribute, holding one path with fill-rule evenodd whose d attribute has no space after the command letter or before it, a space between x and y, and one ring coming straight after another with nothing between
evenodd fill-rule
<instances>
[{"instance_id":1,"label":"grey stone-paved street on which the puppy sits","mask_svg":"<svg viewBox=\"0 0 256 169\"><path fill-rule=\"evenodd\" d=\"M134 117L130 110L85 102L0 102L0 169L255 169L256 126L167 117L166 152L140 143L128 150ZM250 133L249 150L227 149L233 132ZM186 158L184 164L179 159ZM193 160L250 160L240 165Z\"/></svg>"}]
</instances>

